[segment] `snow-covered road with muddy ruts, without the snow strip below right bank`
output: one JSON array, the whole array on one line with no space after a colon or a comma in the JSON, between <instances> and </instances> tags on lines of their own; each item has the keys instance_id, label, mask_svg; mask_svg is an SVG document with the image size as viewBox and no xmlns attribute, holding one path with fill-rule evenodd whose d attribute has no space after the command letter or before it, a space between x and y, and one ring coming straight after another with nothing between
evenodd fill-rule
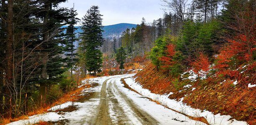
<instances>
[{"instance_id":1,"label":"snow-covered road with muddy ruts, without the snow strip below right bank","mask_svg":"<svg viewBox=\"0 0 256 125\"><path fill-rule=\"evenodd\" d=\"M51 108L51 110L56 110L63 109L69 105L77 105L77 110L65 113L48 112L31 116L28 120L12 122L9 125L27 125L39 121L50 121L53 124L61 121L61 124L66 125L206 125L203 122L191 120L185 115L152 102L148 99L150 94L142 96L143 94L140 95L125 88L120 80L134 75L116 75L89 79L87 82L96 82L99 85L84 90L84 92L93 93L88 100L74 103L67 102ZM136 87L131 78L126 81L130 82L129 85L134 84ZM142 91L142 89L137 89L137 91ZM246 125L244 122L235 121L231 123L226 122L224 118L222 120L223 122L216 123L218 125Z\"/></svg>"}]
</instances>

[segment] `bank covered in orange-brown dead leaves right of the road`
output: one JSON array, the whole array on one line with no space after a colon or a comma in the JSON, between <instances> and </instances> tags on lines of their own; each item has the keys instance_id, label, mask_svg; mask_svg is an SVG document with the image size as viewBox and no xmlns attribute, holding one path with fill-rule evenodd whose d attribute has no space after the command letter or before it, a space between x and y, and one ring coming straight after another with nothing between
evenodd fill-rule
<instances>
[{"instance_id":1,"label":"bank covered in orange-brown dead leaves right of the road","mask_svg":"<svg viewBox=\"0 0 256 125\"><path fill-rule=\"evenodd\" d=\"M251 77L251 73L243 75ZM236 120L256 125L255 83L243 85L239 80L228 79L191 82L188 73L178 77L166 74L150 63L134 78L143 88L153 93L163 95L172 92L170 99L182 100L193 108L208 110L214 114L231 115Z\"/></svg>"}]
</instances>

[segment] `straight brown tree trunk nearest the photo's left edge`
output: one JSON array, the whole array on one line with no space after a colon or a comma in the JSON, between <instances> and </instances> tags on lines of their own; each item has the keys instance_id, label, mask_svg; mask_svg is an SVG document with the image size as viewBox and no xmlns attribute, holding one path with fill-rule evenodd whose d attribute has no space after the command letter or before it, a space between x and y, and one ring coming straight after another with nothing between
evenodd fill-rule
<instances>
[{"instance_id":1,"label":"straight brown tree trunk nearest the photo's left edge","mask_svg":"<svg viewBox=\"0 0 256 125\"><path fill-rule=\"evenodd\" d=\"M8 0L8 19L7 19L7 42L6 42L6 75L5 75L5 105L6 112L12 110L10 87L13 80L13 0ZM8 109L9 108L9 109Z\"/></svg>"}]
</instances>

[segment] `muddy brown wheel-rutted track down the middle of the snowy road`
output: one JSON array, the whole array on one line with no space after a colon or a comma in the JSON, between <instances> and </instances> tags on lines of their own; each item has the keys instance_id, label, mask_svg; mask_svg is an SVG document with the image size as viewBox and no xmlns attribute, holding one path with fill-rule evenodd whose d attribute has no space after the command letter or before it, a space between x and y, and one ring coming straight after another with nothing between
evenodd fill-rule
<instances>
[{"instance_id":1,"label":"muddy brown wheel-rutted track down the middle of the snowy road","mask_svg":"<svg viewBox=\"0 0 256 125\"><path fill-rule=\"evenodd\" d=\"M119 77L113 77L105 80L101 87L100 103L98 113L96 114L93 125L131 125L134 124L136 117L137 123L142 125L157 125L159 122L150 116L147 112L141 110L134 102L127 97L116 85L115 80ZM108 83L107 83L108 82ZM111 110L111 112L110 112ZM128 111L127 111L128 110ZM127 116L127 112L130 115Z\"/></svg>"}]
</instances>

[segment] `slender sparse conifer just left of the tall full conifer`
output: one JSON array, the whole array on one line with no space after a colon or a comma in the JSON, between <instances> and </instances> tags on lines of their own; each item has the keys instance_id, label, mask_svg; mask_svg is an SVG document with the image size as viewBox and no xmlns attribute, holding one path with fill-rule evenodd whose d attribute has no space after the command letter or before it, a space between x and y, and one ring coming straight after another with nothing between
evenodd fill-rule
<instances>
[{"instance_id":1,"label":"slender sparse conifer just left of the tall full conifer","mask_svg":"<svg viewBox=\"0 0 256 125\"><path fill-rule=\"evenodd\" d=\"M75 31L78 29L74 25L76 25L79 21L78 18L76 18L78 14L76 13L76 10L74 8L71 8L68 13L68 20L67 24L68 27L66 28L66 56L67 56L67 64L68 67L71 68L71 77L73 76L73 67L75 63L78 61L78 58L76 58L77 53L74 53L76 48L74 45L75 41L78 41L78 38L76 37Z\"/></svg>"}]
</instances>

